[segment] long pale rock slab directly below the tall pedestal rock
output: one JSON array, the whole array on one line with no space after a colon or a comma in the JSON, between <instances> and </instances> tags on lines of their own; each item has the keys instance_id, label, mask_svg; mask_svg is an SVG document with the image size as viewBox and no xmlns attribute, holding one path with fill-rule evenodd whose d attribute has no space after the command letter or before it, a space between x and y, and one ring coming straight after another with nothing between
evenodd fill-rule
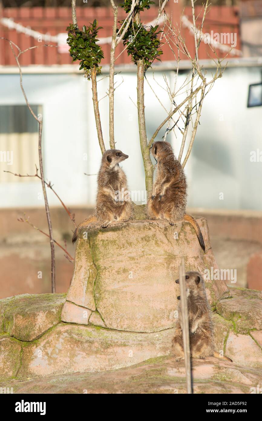
<instances>
[{"instance_id":1,"label":"long pale rock slab directly below the tall pedestal rock","mask_svg":"<svg viewBox=\"0 0 262 421\"><path fill-rule=\"evenodd\" d=\"M168 355L174 332L118 332L60 323L23 349L18 378L111 370Z\"/></svg>"}]
</instances>

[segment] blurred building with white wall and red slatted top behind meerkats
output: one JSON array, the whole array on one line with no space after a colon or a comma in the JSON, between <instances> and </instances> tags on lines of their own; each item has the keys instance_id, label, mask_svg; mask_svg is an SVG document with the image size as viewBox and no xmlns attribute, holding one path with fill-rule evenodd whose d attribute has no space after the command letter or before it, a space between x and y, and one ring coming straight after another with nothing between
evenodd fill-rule
<instances>
[{"instance_id":1,"label":"blurred building with white wall and red slatted top behind meerkats","mask_svg":"<svg viewBox=\"0 0 262 421\"><path fill-rule=\"evenodd\" d=\"M247 3L254 4L249 7ZM247 47L250 41L248 27L253 28L254 10L260 10L257 3L245 2L241 13L237 7L214 6L207 14L204 33L228 34L225 42L217 46L217 54L228 55L228 67L222 79L206 96L202 108L200 126L194 142L191 158L186 165L189 184L188 204L202 208L254 209L262 208L260 191L261 179L261 75L262 58L259 49ZM197 7L196 14L201 11ZM79 27L97 18L103 29L99 32L105 54L102 79L109 71L110 33L112 13L107 8L79 8ZM179 19L177 3L169 4L167 13L173 21ZM119 20L125 13L120 8ZM151 8L142 15L147 23L157 16L157 9ZM191 8L186 7L183 21L183 36L193 52L194 39L191 33ZM248 19L245 17L248 16ZM241 19L240 19L241 18ZM63 200L69 205L89 205L95 203L96 174L100 163L95 122L93 117L92 91L90 82L71 64L66 45L66 26L71 22L70 8L5 8L1 10L0 36L12 40L21 49L44 43L55 47L40 47L23 53L20 62L23 83L29 103L35 112L43 115L43 152L45 176L51 180ZM246 28L244 29L240 28ZM260 32L256 26L253 43L260 43ZM243 33L242 33L243 32ZM240 34L242 37L240 38ZM220 48L221 47L221 48ZM119 47L120 48L120 47ZM121 49L117 52L119 54ZM201 42L199 58L211 77L214 62L209 57L210 48ZM251 56L251 52L254 56ZM117 55L116 54L116 55ZM190 71L190 64L181 57L178 86ZM0 151L1 170L21 174L34 174L37 158L37 125L26 108L19 86L19 74L12 51L6 41L0 42ZM175 59L167 44L164 45L162 62L153 65L146 77L164 106L169 109L163 74L172 85L175 77ZM123 165L127 172L130 189L144 190L144 174L138 139L136 107L136 67L130 63L126 51L116 61L115 91L115 131L117 147L128 155ZM158 85L159 84L159 85ZM254 85L251 96L249 86ZM98 96L103 98L108 88L108 79L98 83ZM251 87L252 89L252 87ZM252 94L253 92L253 94ZM253 95L253 96L252 96ZM248 96L256 107L247 107ZM254 97L254 98L253 98ZM131 99L132 101L131 101ZM176 99L179 102L180 96ZM256 102L257 101L257 102ZM148 137L166 117L151 88L145 83L146 122ZM103 134L109 147L108 99L99 102ZM249 104L250 105L250 104ZM159 139L164 134L160 133ZM175 152L180 149L181 134L170 132L167 138ZM8 155L9 152L9 155ZM251 158L255 155L255 159ZM135 171L134 171L135 168ZM86 176L84 173L91 174ZM196 194L196 192L198 192ZM40 184L33 178L18 178L0 171L1 206L38 206L43 201ZM50 204L58 201L54 195ZM43 202L42 202L43 203Z\"/></svg>"}]
</instances>

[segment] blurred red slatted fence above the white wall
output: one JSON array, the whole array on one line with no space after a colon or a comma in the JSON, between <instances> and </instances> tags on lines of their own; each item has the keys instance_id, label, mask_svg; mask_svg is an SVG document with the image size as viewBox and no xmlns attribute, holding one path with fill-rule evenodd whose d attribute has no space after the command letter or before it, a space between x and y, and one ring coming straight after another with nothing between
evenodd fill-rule
<instances>
[{"instance_id":1,"label":"blurred red slatted fence above the white wall","mask_svg":"<svg viewBox=\"0 0 262 421\"><path fill-rule=\"evenodd\" d=\"M180 20L180 5L174 3L172 0L168 3L167 13L171 16L173 22ZM196 15L200 13L201 7L196 7ZM191 8L186 7L184 14L188 16L188 19L192 21ZM123 9L119 8L119 20L123 19L126 13ZM150 8L148 11L144 11L141 14L141 20L148 23L155 19L157 16L157 8ZM5 8L0 10L0 17L12 18L16 23L23 25L24 27L31 27L40 33L50 33L50 35L57 35L60 32L66 32L66 27L71 23L71 9L70 8ZM98 19L99 26L103 29L99 32L100 37L109 37L111 35L111 29L113 24L113 15L110 8L88 8L81 7L77 8L77 17L79 27L84 24L88 24L94 19ZM201 19L201 13L200 18ZM214 6L210 9L206 16L204 25L204 32L236 32L238 43L236 48L240 49L240 36L239 35L239 18L238 8L226 7L226 6ZM16 43L22 50L32 47L34 45L40 45L37 40L28 35L18 33L16 30L11 30L0 24L0 37L6 37ZM183 29L183 37L186 39L186 43L189 51L193 54L194 51L194 39L193 35L189 33L187 28ZM42 43L43 44L43 43ZM109 62L109 51L110 45L102 46L105 59L102 64ZM122 46L118 47L116 56L120 53ZM164 54L161 57L162 61L174 60L174 56L166 44L163 46ZM200 59L209 59L208 54L212 51L208 45L201 43L199 49ZM223 54L217 51L221 57ZM212 54L211 54L212 56ZM214 54L213 54L214 56ZM181 59L185 59L185 56L181 55ZM59 53L57 48L34 48L21 55L21 65L29 64L71 64L71 57L66 53ZM127 56L126 51L117 59L116 64L129 63L130 58ZM9 48L8 43L3 40L0 41L0 64L1 65L14 65L15 61Z\"/></svg>"}]
</instances>

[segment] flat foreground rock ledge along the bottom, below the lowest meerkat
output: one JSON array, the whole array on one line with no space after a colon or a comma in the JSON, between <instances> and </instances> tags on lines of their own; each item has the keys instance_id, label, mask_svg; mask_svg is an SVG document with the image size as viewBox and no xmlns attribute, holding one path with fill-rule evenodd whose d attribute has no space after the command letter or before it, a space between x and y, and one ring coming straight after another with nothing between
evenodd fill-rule
<instances>
[{"instance_id":1,"label":"flat foreground rock ledge along the bottom, below the lowest meerkat","mask_svg":"<svg viewBox=\"0 0 262 421\"><path fill-rule=\"evenodd\" d=\"M239 367L217 358L193 360L193 393L248 394L261 385L262 369ZM5 386L5 384L3 384ZM184 394L183 361L170 357L103 373L74 373L27 381L8 381L14 393Z\"/></svg>"}]
</instances>

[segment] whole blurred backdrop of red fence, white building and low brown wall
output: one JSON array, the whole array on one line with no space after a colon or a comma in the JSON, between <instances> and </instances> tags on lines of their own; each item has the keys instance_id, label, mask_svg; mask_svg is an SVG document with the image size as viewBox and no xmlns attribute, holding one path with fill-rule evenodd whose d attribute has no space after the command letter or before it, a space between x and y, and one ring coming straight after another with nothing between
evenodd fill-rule
<instances>
[{"instance_id":1,"label":"whole blurred backdrop of red fence, white building and low brown wall","mask_svg":"<svg viewBox=\"0 0 262 421\"><path fill-rule=\"evenodd\" d=\"M198 14L201 1L196 5ZM92 213L95 205L101 152L93 116L91 82L79 72L78 64L71 63L66 44L66 27L72 21L70 6L69 0L2 0L0 37L13 41L22 50L35 45L54 45L29 49L19 60L29 103L43 118L45 179L51 181L53 189L75 213L78 224ZM105 76L109 74L113 24L109 6L109 0L77 1L79 27L94 19L103 27L99 39L105 59L98 77L98 99L108 148L106 91L109 79ZM178 22L183 8L186 19L182 34L189 51L193 51L190 2L170 0L166 11L173 22ZM144 11L141 19L150 24L157 14L156 4ZM119 8L119 20L124 17L125 12ZM217 46L220 57L228 51L225 60L228 65L204 99L200 125L185 166L188 211L207 218L220 269L237 270L237 282L233 285L262 290L262 0L213 1L203 32L231 34L234 48L230 51L230 37L225 37ZM116 56L122 51L122 46L118 48ZM170 107L164 77L172 85L176 75L172 52L167 45L163 51L161 62L146 72L148 137L167 116L157 97L164 107ZM201 43L199 59L207 70L207 77L215 71L210 51ZM185 57L180 56L180 59L178 85L183 84L191 71ZM130 190L144 192L135 106L136 66L126 51L116 60L115 71L118 86L115 91L116 147L129 155L123 169ZM35 227L48 232L41 182L34 177L4 172L33 175L35 164L39 168L37 122L26 107L19 85L19 69L10 45L4 40L0 40L0 91L0 298L50 292L48 239L32 226L18 221L24 215L29 216ZM176 99L177 103L182 96ZM158 140L164 131L165 127ZM178 155L180 131L170 131L167 141ZM47 190L54 238L63 246L66 241L69 253L74 256L71 245L74 226L56 195ZM136 202L141 203L139 197ZM72 271L73 264L64 257L63 250L56 248L56 292L66 292Z\"/></svg>"}]
</instances>

